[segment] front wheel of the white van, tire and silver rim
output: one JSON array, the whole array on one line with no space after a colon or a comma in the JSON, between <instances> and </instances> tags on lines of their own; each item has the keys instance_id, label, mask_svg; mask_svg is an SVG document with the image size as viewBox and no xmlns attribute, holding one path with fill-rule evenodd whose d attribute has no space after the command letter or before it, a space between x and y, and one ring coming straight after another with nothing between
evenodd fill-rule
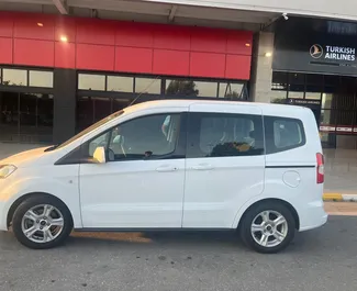
<instances>
[{"instance_id":1,"label":"front wheel of the white van, tire and silver rim","mask_svg":"<svg viewBox=\"0 0 357 291\"><path fill-rule=\"evenodd\" d=\"M18 240L29 248L53 248L69 236L72 219L60 200L38 194L25 199L18 206L12 219L12 230Z\"/></svg>"}]
</instances>

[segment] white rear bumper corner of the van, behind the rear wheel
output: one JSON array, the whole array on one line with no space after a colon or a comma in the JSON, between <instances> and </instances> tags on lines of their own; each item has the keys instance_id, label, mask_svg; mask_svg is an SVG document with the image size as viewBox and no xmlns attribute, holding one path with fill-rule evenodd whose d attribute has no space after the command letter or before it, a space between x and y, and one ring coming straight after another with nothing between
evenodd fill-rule
<instances>
[{"instance_id":1,"label":"white rear bumper corner of the van, behind the rear wheel","mask_svg":"<svg viewBox=\"0 0 357 291\"><path fill-rule=\"evenodd\" d=\"M322 200L311 202L303 210L299 211L299 232L310 231L323 226L328 219Z\"/></svg>"}]
</instances>

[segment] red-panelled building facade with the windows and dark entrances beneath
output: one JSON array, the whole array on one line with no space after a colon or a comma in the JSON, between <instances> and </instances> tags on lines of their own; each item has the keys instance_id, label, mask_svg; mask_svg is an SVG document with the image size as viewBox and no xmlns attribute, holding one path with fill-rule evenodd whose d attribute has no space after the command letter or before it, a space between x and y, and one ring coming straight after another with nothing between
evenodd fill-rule
<instances>
[{"instance_id":1,"label":"red-panelled building facade with the windows and dark entrances beneath","mask_svg":"<svg viewBox=\"0 0 357 291\"><path fill-rule=\"evenodd\" d=\"M10 12L0 27L4 142L60 142L134 99L247 99L249 31Z\"/></svg>"}]
</instances>

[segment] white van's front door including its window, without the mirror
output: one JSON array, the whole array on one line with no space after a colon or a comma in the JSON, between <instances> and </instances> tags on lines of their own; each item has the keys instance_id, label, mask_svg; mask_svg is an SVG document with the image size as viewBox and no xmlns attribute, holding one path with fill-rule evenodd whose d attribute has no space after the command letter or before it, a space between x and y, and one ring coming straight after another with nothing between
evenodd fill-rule
<instances>
[{"instance_id":1,"label":"white van's front door including its window, without the mirror","mask_svg":"<svg viewBox=\"0 0 357 291\"><path fill-rule=\"evenodd\" d=\"M89 156L104 146L108 163L80 165L83 227L181 227L181 120L180 113L137 117L85 144Z\"/></svg>"}]
</instances>

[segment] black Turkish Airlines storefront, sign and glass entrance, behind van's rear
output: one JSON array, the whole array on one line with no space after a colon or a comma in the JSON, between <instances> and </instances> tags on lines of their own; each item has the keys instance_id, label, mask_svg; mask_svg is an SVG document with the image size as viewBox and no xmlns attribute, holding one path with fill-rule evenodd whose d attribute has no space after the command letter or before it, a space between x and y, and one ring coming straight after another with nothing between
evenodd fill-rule
<instances>
[{"instance_id":1,"label":"black Turkish Airlines storefront, sign and glass entrance, behind van's rear","mask_svg":"<svg viewBox=\"0 0 357 291\"><path fill-rule=\"evenodd\" d=\"M323 19L275 31L271 102L309 107L325 147L357 148L356 36L356 23Z\"/></svg>"}]
</instances>

